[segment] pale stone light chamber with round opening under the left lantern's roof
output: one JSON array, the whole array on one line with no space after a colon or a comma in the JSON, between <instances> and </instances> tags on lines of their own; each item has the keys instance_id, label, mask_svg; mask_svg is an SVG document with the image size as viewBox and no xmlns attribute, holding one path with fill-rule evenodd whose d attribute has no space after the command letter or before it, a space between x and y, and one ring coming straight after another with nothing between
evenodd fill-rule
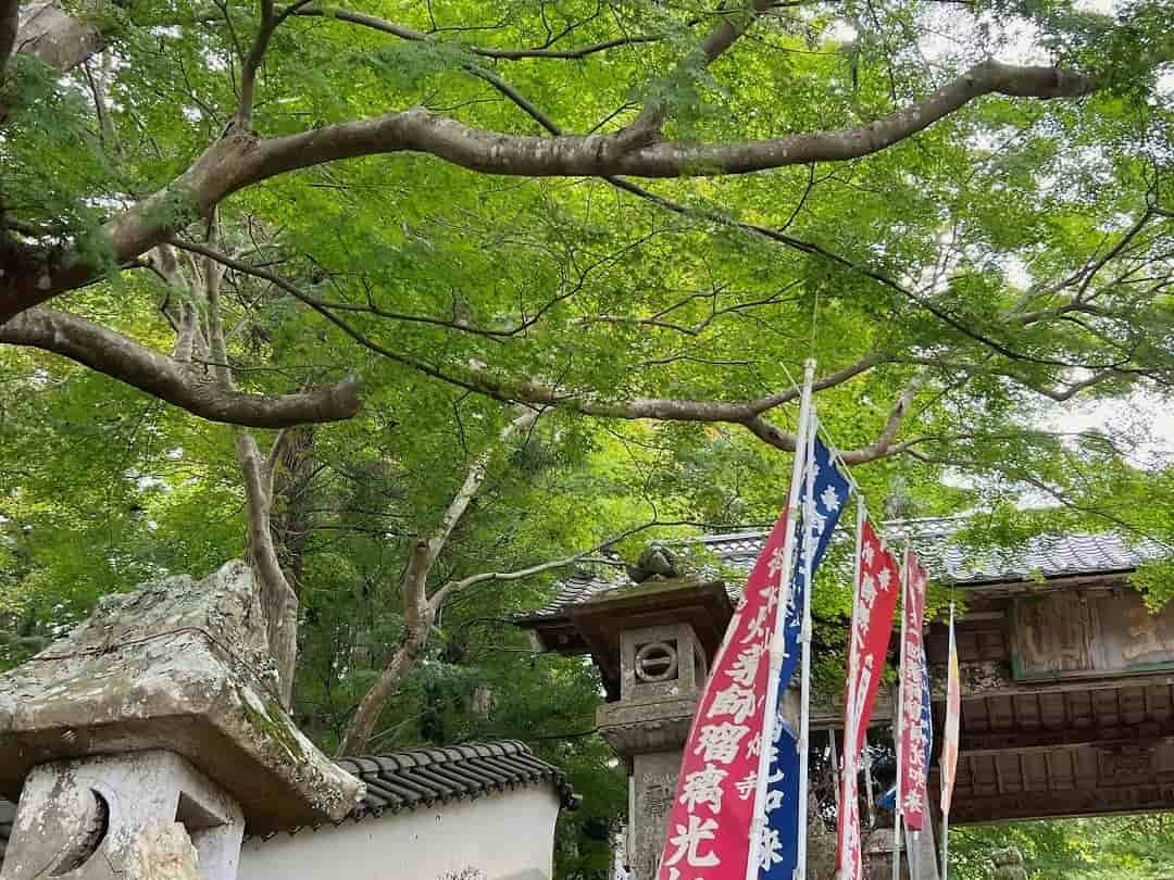
<instances>
[{"instance_id":1,"label":"pale stone light chamber with round opening under the left lantern's roof","mask_svg":"<svg viewBox=\"0 0 1174 880\"><path fill-rule=\"evenodd\" d=\"M149 751L33 769L0 880L234 880L237 801L187 760Z\"/></svg>"}]
</instances>

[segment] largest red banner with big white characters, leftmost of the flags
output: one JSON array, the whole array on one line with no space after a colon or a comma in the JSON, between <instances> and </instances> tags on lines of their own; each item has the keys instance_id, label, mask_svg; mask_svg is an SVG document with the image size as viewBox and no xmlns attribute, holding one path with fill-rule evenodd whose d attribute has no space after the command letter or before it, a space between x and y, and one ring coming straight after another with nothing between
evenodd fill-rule
<instances>
[{"instance_id":1,"label":"largest red banner with big white characters, leftmost of the flags","mask_svg":"<svg viewBox=\"0 0 1174 880\"><path fill-rule=\"evenodd\" d=\"M767 649L780 610L787 513L747 580L684 746L660 880L742 880L750 848Z\"/></svg>"}]
</instances>

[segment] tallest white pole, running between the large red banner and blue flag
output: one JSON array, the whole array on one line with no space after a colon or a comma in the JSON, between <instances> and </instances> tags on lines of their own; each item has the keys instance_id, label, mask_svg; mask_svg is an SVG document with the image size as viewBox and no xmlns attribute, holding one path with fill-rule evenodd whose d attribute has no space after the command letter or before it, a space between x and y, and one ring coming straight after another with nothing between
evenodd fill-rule
<instances>
[{"instance_id":1,"label":"tallest white pole, running between the large red banner and blue flag","mask_svg":"<svg viewBox=\"0 0 1174 880\"><path fill-rule=\"evenodd\" d=\"M808 360L803 373L803 393L799 398L799 424L795 433L795 463L791 466L791 486L787 495L787 535L783 539L783 568L780 571L780 601L775 611L775 631L770 637L770 671L767 677L767 703L762 718L762 744L758 749L758 774L755 779L754 818L750 821L750 851L745 861L745 880L757 880L758 860L762 858L762 828L767 820L767 778L770 776L770 752L775 736L775 716L778 713L778 670L783 665L787 605L790 603L791 574L795 556L795 527L798 524L799 483L807 462L805 442L811 418L811 385L815 381L815 361Z\"/></svg>"}]
</instances>

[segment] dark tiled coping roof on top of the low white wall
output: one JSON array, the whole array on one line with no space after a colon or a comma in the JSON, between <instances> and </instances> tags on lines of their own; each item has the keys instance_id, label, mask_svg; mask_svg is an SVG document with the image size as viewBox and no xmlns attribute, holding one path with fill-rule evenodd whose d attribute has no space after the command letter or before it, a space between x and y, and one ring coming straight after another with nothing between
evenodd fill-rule
<instances>
[{"instance_id":1,"label":"dark tiled coping roof on top of the low white wall","mask_svg":"<svg viewBox=\"0 0 1174 880\"><path fill-rule=\"evenodd\" d=\"M567 808L580 803L561 770L539 760L529 746L515 739L343 758L338 765L366 783L366 796L350 815L355 820L532 785L553 786ZM0 864L14 812L12 803L0 799Z\"/></svg>"}]
</instances>

